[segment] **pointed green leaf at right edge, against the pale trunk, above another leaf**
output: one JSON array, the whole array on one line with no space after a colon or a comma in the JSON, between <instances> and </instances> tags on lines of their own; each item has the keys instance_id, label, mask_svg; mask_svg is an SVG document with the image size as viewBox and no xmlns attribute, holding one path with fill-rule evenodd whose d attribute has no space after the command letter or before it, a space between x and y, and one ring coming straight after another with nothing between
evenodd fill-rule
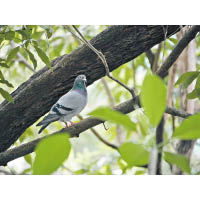
<instances>
[{"instance_id":1,"label":"pointed green leaf at right edge, against the pale trunk, above another leaf","mask_svg":"<svg viewBox=\"0 0 200 200\"><path fill-rule=\"evenodd\" d=\"M181 75L181 77L176 81L175 85L182 84L183 88L187 88L192 81L197 78L200 72L194 71L194 72L186 72Z\"/></svg>"}]
</instances>

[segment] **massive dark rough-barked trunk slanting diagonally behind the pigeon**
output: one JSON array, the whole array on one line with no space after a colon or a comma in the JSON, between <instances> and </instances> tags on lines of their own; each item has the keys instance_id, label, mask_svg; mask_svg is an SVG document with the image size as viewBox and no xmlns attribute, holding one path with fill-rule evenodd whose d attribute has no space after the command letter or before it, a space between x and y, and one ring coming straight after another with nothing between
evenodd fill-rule
<instances>
[{"instance_id":1,"label":"massive dark rough-barked trunk slanting diagonally behind the pigeon","mask_svg":"<svg viewBox=\"0 0 200 200\"><path fill-rule=\"evenodd\" d=\"M168 26L167 36L179 26ZM91 40L105 55L110 71L134 59L164 40L162 26L112 26ZM0 152L9 148L20 135L49 111L60 96L72 87L78 74L85 74L88 85L105 75L96 54L83 45L69 55L44 67L12 93L15 103L0 105Z\"/></svg>"}]
</instances>

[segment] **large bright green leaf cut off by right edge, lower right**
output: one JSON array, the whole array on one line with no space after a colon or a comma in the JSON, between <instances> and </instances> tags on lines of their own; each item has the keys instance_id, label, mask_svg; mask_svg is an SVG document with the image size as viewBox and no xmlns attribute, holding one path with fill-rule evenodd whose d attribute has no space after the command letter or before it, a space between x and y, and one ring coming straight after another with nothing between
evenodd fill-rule
<instances>
[{"instance_id":1,"label":"large bright green leaf cut off by right edge, lower right","mask_svg":"<svg viewBox=\"0 0 200 200\"><path fill-rule=\"evenodd\" d=\"M183 140L200 138L200 114L185 119L172 136Z\"/></svg>"}]
</instances>

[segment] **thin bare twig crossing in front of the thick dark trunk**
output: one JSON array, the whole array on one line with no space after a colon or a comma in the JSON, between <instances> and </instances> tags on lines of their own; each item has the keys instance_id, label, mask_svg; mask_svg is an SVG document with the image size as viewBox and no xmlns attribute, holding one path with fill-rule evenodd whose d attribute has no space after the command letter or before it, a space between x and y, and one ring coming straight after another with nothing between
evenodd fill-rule
<instances>
[{"instance_id":1,"label":"thin bare twig crossing in front of the thick dark trunk","mask_svg":"<svg viewBox=\"0 0 200 200\"><path fill-rule=\"evenodd\" d=\"M133 89L129 88L128 86L126 86L125 84L123 84L121 81L119 81L118 79L116 79L116 78L114 78L114 77L112 77L112 76L110 75L109 67L108 67L106 58L105 58L105 56L103 55L103 53L100 52L100 51L98 51L96 48L94 48L94 47L91 45L91 43L90 43L89 41L87 41L87 40L84 38L84 36L80 33L80 31L76 28L76 26L73 25L73 28L74 28L74 30L79 34L79 36L82 38L82 40L84 41L84 43L85 43L92 51L94 51L94 52L97 54L97 56L101 59L102 63L103 63L104 66L105 66L106 75L107 75L110 79L112 79L113 81L117 82L119 85L121 85L122 87L124 87L126 90L128 90L128 91L131 93L132 97L135 98L136 95L135 95L135 92L134 92ZM79 37L78 37L78 38L79 38ZM82 41L82 40L81 40L81 41ZM83 42L83 41L82 41L82 42Z\"/></svg>"}]
</instances>

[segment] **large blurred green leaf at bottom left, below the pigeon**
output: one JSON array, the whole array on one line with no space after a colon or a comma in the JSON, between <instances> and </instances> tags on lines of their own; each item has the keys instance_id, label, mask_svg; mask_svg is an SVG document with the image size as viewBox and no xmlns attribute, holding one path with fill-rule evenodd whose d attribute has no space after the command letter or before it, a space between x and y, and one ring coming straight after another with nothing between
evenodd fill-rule
<instances>
[{"instance_id":1,"label":"large blurred green leaf at bottom left, below the pigeon","mask_svg":"<svg viewBox=\"0 0 200 200\"><path fill-rule=\"evenodd\" d=\"M71 150L69 136L57 134L43 139L36 147L33 174L51 174L68 158Z\"/></svg>"}]
</instances>

